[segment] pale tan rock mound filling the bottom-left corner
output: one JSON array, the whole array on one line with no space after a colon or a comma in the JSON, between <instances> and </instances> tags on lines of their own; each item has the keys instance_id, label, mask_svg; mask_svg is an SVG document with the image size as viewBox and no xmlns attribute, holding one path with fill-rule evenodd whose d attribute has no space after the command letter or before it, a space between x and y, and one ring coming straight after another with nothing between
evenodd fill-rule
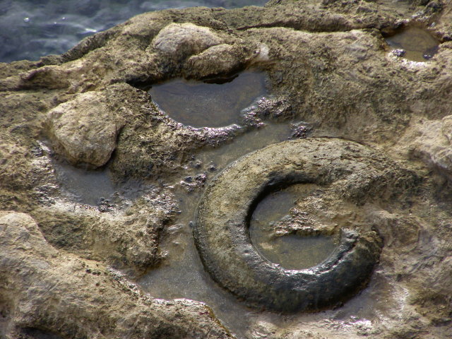
<instances>
[{"instance_id":1,"label":"pale tan rock mound filling the bottom-left corner","mask_svg":"<svg viewBox=\"0 0 452 339\"><path fill-rule=\"evenodd\" d=\"M1 212L0 235L6 338L34 329L62 338L230 338L203 304L154 301L105 266L61 254L29 215Z\"/></svg>"}]
</instances>

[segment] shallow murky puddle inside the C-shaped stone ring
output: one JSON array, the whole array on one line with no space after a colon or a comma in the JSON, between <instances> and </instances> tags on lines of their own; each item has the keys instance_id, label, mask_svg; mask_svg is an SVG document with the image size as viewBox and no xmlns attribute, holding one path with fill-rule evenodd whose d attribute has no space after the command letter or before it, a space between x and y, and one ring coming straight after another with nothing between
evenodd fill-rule
<instances>
[{"instance_id":1,"label":"shallow murky puddle inside the C-shaped stone ring","mask_svg":"<svg viewBox=\"0 0 452 339\"><path fill-rule=\"evenodd\" d=\"M337 246L334 237L300 237L297 234L275 236L276 222L287 218L295 202L316 189L315 186L289 186L268 194L256 206L251 216L249 235L259 254L268 261L278 263L288 270L301 270L316 266L334 251Z\"/></svg>"}]
</instances>

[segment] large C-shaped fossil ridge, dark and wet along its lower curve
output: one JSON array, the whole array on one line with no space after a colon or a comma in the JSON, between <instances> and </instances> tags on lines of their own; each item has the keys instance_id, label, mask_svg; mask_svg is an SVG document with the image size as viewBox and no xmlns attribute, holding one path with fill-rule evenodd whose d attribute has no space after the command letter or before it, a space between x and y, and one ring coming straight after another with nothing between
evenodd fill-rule
<instances>
[{"instance_id":1,"label":"large C-shaped fossil ridge, dark and wet along its lower curve","mask_svg":"<svg viewBox=\"0 0 452 339\"><path fill-rule=\"evenodd\" d=\"M381 253L379 235L362 225L341 227L340 242L325 261L287 270L251 244L250 215L268 192L291 184L325 186L362 206L367 199L388 198L405 174L381 153L337 138L285 141L250 153L218 174L203 194L194 224L201 260L219 285L251 307L292 312L334 306L369 281Z\"/></svg>"}]
</instances>

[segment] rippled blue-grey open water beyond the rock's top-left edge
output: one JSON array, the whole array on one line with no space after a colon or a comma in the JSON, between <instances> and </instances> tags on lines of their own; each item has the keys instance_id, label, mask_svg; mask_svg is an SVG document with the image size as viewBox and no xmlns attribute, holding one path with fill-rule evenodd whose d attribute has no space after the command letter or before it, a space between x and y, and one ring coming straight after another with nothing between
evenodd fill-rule
<instances>
[{"instance_id":1,"label":"rippled blue-grey open water beyond the rock's top-left edge","mask_svg":"<svg viewBox=\"0 0 452 339\"><path fill-rule=\"evenodd\" d=\"M0 62L61 54L95 32L148 11L262 6L268 0L0 0Z\"/></svg>"}]
</instances>

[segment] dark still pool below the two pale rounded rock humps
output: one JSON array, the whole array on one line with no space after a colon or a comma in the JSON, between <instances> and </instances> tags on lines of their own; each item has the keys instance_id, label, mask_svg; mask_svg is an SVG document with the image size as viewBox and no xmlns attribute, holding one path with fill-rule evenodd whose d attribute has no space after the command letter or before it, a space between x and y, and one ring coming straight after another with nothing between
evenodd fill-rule
<instances>
[{"instance_id":1,"label":"dark still pool below the two pale rounded rock humps","mask_svg":"<svg viewBox=\"0 0 452 339\"><path fill-rule=\"evenodd\" d=\"M266 95L266 76L245 71L226 83L176 79L153 85L149 94L169 117L193 127L222 127L240 122L242 109Z\"/></svg>"}]
</instances>

